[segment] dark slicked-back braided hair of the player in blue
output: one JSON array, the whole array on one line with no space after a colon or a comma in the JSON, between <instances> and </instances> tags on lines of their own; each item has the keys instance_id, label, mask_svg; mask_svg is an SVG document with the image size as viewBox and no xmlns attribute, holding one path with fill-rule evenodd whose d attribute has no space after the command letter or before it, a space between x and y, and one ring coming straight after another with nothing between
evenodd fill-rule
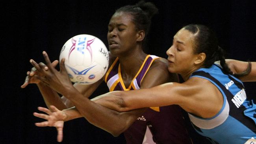
<instances>
[{"instance_id":1,"label":"dark slicked-back braided hair of the player in blue","mask_svg":"<svg viewBox=\"0 0 256 144\"><path fill-rule=\"evenodd\" d=\"M209 68L215 61L219 60L224 72L233 75L233 72L228 68L228 65L225 62L223 49L218 46L217 37L212 30L207 26L199 24L189 24L183 28L195 34L193 51L194 54L206 54L206 59L204 61L205 68Z\"/></svg>"}]
</instances>

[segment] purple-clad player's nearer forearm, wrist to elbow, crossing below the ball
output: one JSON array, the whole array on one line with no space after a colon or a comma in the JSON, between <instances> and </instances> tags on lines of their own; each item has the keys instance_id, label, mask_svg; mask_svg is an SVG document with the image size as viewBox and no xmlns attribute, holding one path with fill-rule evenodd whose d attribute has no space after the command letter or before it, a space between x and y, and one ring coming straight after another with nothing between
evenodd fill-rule
<instances>
[{"instance_id":1,"label":"purple-clad player's nearer forearm, wrist to elbow, crossing below the ball","mask_svg":"<svg viewBox=\"0 0 256 144\"><path fill-rule=\"evenodd\" d=\"M65 96L74 103L76 109L88 122L108 131L114 136L118 136L127 129L136 120L135 117L138 117L138 114L141 114L141 111L143 111L136 111L137 115L132 114L132 112L119 113L83 97L76 89L69 90ZM126 120L123 118L126 118Z\"/></svg>"}]
</instances>

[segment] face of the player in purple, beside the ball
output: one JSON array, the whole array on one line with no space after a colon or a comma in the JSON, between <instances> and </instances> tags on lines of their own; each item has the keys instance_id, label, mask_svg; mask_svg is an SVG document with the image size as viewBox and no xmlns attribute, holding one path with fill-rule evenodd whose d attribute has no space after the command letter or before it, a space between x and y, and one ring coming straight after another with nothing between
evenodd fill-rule
<instances>
[{"instance_id":1,"label":"face of the player in purple, beside the ball","mask_svg":"<svg viewBox=\"0 0 256 144\"><path fill-rule=\"evenodd\" d=\"M126 13L115 13L108 24L108 46L111 54L122 56L132 52L136 42L136 28L132 16Z\"/></svg>"}]
</instances>

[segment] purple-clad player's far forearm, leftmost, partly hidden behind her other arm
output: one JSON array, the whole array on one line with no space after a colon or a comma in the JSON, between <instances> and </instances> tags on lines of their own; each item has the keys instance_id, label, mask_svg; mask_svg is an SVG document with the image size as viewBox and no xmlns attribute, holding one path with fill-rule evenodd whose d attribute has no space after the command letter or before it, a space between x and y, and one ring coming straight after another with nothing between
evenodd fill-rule
<instances>
[{"instance_id":1,"label":"purple-clad player's far forearm, leftmost, partly hidden behind her other arm","mask_svg":"<svg viewBox=\"0 0 256 144\"><path fill-rule=\"evenodd\" d=\"M50 87L48 87L47 85L45 85L43 83L38 83L37 86L38 86L38 88L45 100L45 104L48 108L50 105L54 105L59 110L67 109L66 105L63 103L59 94L56 91L52 90Z\"/></svg>"}]
</instances>

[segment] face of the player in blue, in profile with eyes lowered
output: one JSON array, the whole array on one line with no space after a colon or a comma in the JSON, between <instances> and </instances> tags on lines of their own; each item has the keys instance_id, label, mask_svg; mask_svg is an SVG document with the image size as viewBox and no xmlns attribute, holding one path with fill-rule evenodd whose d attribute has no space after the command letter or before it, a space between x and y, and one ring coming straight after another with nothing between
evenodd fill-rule
<instances>
[{"instance_id":1,"label":"face of the player in blue, in profile with eyes lowered","mask_svg":"<svg viewBox=\"0 0 256 144\"><path fill-rule=\"evenodd\" d=\"M187 74L193 70L197 55L193 54L194 35L182 28L173 37L173 45L167 50L169 72Z\"/></svg>"}]
</instances>

